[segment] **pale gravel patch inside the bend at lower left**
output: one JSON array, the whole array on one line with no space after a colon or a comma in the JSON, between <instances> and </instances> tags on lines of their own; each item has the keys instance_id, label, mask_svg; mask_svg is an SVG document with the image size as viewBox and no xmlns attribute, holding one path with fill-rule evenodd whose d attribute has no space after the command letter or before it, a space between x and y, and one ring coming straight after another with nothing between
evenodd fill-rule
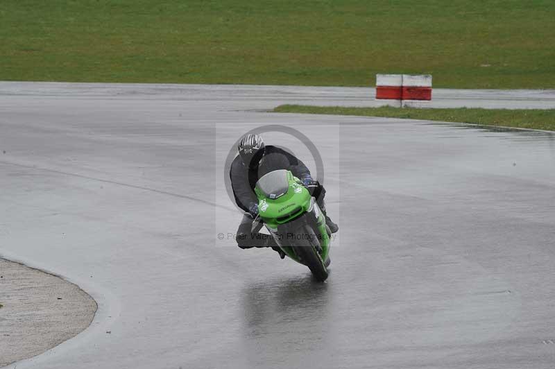
<instances>
[{"instance_id":1,"label":"pale gravel patch inside the bend at lower left","mask_svg":"<svg viewBox=\"0 0 555 369\"><path fill-rule=\"evenodd\" d=\"M27 359L92 322L96 302L76 284L0 259L0 366Z\"/></svg>"}]
</instances>

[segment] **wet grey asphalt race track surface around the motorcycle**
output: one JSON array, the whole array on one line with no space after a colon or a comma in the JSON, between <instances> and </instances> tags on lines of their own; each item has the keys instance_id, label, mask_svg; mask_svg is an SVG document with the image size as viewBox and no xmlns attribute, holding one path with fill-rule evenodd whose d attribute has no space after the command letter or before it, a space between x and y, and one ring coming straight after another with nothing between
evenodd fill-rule
<instances>
[{"instance_id":1,"label":"wet grey asphalt race track surface around the motorcycle","mask_svg":"<svg viewBox=\"0 0 555 369\"><path fill-rule=\"evenodd\" d=\"M17 368L553 368L554 134L262 112L363 105L358 89L234 91L0 84L0 255L99 304ZM228 237L223 162L269 124L323 157L340 226L325 284ZM265 138L314 168L296 138Z\"/></svg>"}]
</instances>

